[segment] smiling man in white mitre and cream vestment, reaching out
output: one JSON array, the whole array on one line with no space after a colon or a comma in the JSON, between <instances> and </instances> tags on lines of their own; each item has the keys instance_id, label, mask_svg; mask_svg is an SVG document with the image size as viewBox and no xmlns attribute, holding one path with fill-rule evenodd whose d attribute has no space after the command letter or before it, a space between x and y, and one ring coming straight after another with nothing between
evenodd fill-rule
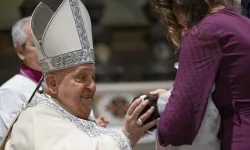
<instances>
[{"instance_id":1,"label":"smiling man in white mitre and cream vestment, reaching out","mask_svg":"<svg viewBox=\"0 0 250 150\"><path fill-rule=\"evenodd\" d=\"M64 0L56 12L40 3L31 28L46 93L36 92L1 143L1 150L130 150L156 125L139 116L148 101L137 99L121 130L89 120L96 91L91 22L80 0Z\"/></svg>"}]
</instances>

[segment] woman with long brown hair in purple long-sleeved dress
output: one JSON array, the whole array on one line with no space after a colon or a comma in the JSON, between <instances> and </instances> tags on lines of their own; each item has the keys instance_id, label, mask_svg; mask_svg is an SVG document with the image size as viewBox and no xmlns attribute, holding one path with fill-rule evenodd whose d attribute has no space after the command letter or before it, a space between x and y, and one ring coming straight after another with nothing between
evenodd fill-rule
<instances>
[{"instance_id":1,"label":"woman with long brown hair in purple long-sleeved dress","mask_svg":"<svg viewBox=\"0 0 250 150\"><path fill-rule=\"evenodd\" d=\"M215 85L212 100L221 116L221 149L249 150L250 20L232 1L151 2L168 38L180 48L175 83L159 119L159 144L192 145Z\"/></svg>"}]
</instances>

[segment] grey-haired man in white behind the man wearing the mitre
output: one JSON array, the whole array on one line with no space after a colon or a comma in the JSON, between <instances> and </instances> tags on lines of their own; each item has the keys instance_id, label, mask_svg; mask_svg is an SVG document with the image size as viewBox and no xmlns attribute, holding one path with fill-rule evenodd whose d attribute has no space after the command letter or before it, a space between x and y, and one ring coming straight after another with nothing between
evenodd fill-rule
<instances>
[{"instance_id":1,"label":"grey-haired man in white behind the man wearing the mitre","mask_svg":"<svg viewBox=\"0 0 250 150\"><path fill-rule=\"evenodd\" d=\"M19 20L11 31L14 49L23 65L18 74L0 87L1 134L7 131L21 106L28 102L40 78L41 65L30 31L30 17Z\"/></svg>"}]
</instances>

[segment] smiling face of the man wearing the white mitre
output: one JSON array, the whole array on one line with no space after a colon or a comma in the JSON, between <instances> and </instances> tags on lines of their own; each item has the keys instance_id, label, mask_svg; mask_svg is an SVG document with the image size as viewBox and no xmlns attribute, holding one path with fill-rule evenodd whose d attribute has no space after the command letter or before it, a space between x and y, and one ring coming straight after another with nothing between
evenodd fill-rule
<instances>
[{"instance_id":1,"label":"smiling face of the man wearing the white mitre","mask_svg":"<svg viewBox=\"0 0 250 150\"><path fill-rule=\"evenodd\" d=\"M88 119L96 91L95 65L84 64L46 75L49 93L76 117Z\"/></svg>"}]
</instances>

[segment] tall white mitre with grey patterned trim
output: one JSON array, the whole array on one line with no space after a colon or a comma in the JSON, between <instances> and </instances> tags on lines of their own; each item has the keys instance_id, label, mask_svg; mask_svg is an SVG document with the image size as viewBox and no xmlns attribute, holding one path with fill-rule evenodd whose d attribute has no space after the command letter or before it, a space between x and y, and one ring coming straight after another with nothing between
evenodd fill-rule
<instances>
[{"instance_id":1,"label":"tall white mitre with grey patterned trim","mask_svg":"<svg viewBox=\"0 0 250 150\"><path fill-rule=\"evenodd\" d=\"M95 63L91 20L80 0L64 0L56 12L40 3L31 17L31 32L44 75Z\"/></svg>"}]
</instances>

